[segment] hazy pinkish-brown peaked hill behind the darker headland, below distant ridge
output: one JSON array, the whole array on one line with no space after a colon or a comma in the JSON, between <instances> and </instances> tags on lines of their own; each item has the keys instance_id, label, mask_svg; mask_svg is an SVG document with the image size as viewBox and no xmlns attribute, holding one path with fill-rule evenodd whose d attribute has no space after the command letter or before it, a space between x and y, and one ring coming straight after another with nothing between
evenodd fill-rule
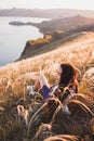
<instances>
[{"instance_id":1,"label":"hazy pinkish-brown peaked hill behind the darker headland, below distant ridge","mask_svg":"<svg viewBox=\"0 0 94 141\"><path fill-rule=\"evenodd\" d=\"M40 28L40 31L42 31L43 34L51 34L58 29L67 31L92 23L94 23L94 18L77 15L72 17L52 20L42 23L32 23L32 25Z\"/></svg>"}]
</instances>

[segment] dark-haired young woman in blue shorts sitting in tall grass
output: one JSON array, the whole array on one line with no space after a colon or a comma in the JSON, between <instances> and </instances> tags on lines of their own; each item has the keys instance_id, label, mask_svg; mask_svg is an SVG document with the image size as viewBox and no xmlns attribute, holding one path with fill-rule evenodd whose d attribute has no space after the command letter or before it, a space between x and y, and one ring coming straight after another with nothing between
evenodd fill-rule
<instances>
[{"instance_id":1,"label":"dark-haired young woman in blue shorts sitting in tall grass","mask_svg":"<svg viewBox=\"0 0 94 141\"><path fill-rule=\"evenodd\" d=\"M30 94L35 94L35 91L37 91L39 88L42 90L42 95L44 101L52 95L56 95L58 99L65 100L68 95L68 91L63 94L61 98L59 92L56 92L57 89L63 88L69 88L69 91L71 93L78 92L78 81L77 81L77 70L71 64L61 64L57 74L56 74L56 85L51 86L49 85L45 76L40 75L39 79L36 81L35 86L28 86L27 89L30 91Z\"/></svg>"}]
</instances>

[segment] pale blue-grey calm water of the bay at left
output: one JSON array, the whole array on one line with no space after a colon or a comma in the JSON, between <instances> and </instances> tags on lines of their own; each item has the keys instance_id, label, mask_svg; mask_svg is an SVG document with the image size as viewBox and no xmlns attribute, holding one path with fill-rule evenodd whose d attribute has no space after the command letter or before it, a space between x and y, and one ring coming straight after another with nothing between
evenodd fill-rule
<instances>
[{"instance_id":1,"label":"pale blue-grey calm water of the bay at left","mask_svg":"<svg viewBox=\"0 0 94 141\"><path fill-rule=\"evenodd\" d=\"M19 57L26 41L43 37L35 26L12 26L10 22L41 23L46 18L36 17L0 17L0 66Z\"/></svg>"}]
</instances>

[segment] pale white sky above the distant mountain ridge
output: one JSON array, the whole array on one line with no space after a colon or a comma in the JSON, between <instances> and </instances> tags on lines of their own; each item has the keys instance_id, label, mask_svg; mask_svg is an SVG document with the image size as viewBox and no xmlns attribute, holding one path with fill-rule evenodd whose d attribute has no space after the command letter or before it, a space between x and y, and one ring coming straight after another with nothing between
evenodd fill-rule
<instances>
[{"instance_id":1,"label":"pale white sky above the distant mountain ridge","mask_svg":"<svg viewBox=\"0 0 94 141\"><path fill-rule=\"evenodd\" d=\"M94 10L94 0L0 0L0 9L11 8Z\"/></svg>"}]
</instances>

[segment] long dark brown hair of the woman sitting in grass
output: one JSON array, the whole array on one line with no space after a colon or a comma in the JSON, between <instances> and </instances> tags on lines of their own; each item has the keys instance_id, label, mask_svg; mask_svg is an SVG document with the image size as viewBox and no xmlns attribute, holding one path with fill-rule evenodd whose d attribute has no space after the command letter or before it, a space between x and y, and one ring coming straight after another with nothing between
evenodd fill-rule
<instances>
[{"instance_id":1,"label":"long dark brown hair of the woman sitting in grass","mask_svg":"<svg viewBox=\"0 0 94 141\"><path fill-rule=\"evenodd\" d=\"M69 84L77 87L77 69L67 63L61 64L62 75L59 86L67 87ZM77 90L78 91L78 90Z\"/></svg>"}]
</instances>

